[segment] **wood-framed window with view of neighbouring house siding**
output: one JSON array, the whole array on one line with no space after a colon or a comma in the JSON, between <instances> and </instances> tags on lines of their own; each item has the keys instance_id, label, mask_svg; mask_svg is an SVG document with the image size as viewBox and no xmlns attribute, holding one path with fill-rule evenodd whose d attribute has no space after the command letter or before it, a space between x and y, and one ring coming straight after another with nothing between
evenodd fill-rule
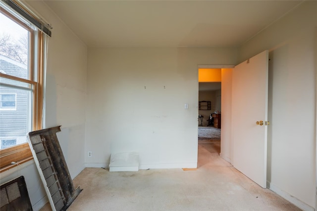
<instances>
[{"instance_id":1,"label":"wood-framed window with view of neighbouring house siding","mask_svg":"<svg viewBox=\"0 0 317 211\"><path fill-rule=\"evenodd\" d=\"M42 129L45 37L15 7L0 1L0 172L33 158L26 134Z\"/></svg>"}]
</instances>

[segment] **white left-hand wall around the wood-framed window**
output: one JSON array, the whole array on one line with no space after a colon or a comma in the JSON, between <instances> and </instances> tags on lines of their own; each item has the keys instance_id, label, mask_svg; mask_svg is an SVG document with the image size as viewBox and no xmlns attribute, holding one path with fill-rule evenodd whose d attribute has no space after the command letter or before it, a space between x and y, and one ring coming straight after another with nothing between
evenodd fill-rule
<instances>
[{"instance_id":1,"label":"white left-hand wall around the wood-framed window","mask_svg":"<svg viewBox=\"0 0 317 211\"><path fill-rule=\"evenodd\" d=\"M71 177L84 168L87 47L46 6L27 1L52 24L46 79L45 127L61 125L57 133ZM24 175L34 210L46 203L46 194L34 161L1 173L1 183Z\"/></svg>"}]
</instances>

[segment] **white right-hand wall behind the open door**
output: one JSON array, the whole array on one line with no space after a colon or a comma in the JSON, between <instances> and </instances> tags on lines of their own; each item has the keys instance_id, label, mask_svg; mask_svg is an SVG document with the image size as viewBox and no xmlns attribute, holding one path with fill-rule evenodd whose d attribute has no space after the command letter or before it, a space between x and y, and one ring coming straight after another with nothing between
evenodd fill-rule
<instances>
[{"instance_id":1,"label":"white right-hand wall behind the open door","mask_svg":"<svg viewBox=\"0 0 317 211\"><path fill-rule=\"evenodd\" d=\"M316 206L316 27L317 1L306 1L239 53L270 50L268 185L304 210Z\"/></svg>"}]
</instances>

